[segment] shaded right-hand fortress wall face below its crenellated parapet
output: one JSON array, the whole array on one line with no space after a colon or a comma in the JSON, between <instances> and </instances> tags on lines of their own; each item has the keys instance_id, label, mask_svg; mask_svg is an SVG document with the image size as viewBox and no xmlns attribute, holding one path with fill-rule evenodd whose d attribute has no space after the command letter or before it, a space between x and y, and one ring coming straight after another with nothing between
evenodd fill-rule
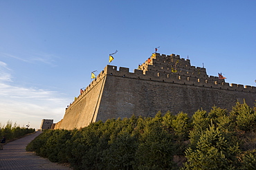
<instances>
[{"instance_id":1,"label":"shaded right-hand fortress wall face below its crenellated parapet","mask_svg":"<svg viewBox=\"0 0 256 170\"><path fill-rule=\"evenodd\" d=\"M174 114L184 111L191 116L197 109L210 111L213 105L231 109L237 100L243 102L244 98L248 105L254 106L256 94L107 74L96 121L132 114L154 116L159 110Z\"/></svg>"}]
</instances>

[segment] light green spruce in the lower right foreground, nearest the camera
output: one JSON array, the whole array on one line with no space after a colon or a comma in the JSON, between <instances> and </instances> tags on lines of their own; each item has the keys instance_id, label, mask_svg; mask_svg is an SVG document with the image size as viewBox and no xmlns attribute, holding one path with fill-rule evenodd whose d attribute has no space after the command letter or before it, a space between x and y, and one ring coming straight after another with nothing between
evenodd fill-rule
<instances>
[{"instance_id":1,"label":"light green spruce in the lower right foreground, nearest the camera","mask_svg":"<svg viewBox=\"0 0 256 170\"><path fill-rule=\"evenodd\" d=\"M211 125L201 132L196 149L185 151L188 162L183 169L235 169L239 167L239 147L232 145L224 131Z\"/></svg>"}]
</instances>

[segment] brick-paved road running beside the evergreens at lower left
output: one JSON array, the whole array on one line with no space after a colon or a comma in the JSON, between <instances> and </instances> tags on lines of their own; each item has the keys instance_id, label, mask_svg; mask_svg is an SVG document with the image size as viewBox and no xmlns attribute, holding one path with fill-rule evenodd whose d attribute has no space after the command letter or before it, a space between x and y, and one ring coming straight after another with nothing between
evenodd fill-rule
<instances>
[{"instance_id":1,"label":"brick-paved road running beside the evergreens at lower left","mask_svg":"<svg viewBox=\"0 0 256 170\"><path fill-rule=\"evenodd\" d=\"M31 134L3 145L3 150L0 150L0 169L69 169L68 167L53 163L46 158L41 158L36 156L35 153L27 152L25 150L28 143L41 133L41 131L37 131L35 134Z\"/></svg>"}]
</instances>

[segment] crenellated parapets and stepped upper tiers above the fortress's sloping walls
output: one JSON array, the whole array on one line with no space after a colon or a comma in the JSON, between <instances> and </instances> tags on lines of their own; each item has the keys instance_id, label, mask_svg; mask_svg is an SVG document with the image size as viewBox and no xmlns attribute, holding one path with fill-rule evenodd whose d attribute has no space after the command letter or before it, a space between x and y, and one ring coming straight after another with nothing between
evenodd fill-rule
<instances>
[{"instance_id":1,"label":"crenellated parapets and stepped upper tiers above the fortress's sloping walls","mask_svg":"<svg viewBox=\"0 0 256 170\"><path fill-rule=\"evenodd\" d=\"M176 72L172 72L173 69ZM256 93L256 87L254 86L229 84L225 83L224 79L220 80L217 76L208 76L205 68L192 66L189 59L183 59L179 55L154 53L138 69L134 69L134 72L129 72L127 67L119 67L118 70L117 66L107 65L66 109L78 103L105 76L119 76L143 81L158 81L161 83Z\"/></svg>"}]
</instances>

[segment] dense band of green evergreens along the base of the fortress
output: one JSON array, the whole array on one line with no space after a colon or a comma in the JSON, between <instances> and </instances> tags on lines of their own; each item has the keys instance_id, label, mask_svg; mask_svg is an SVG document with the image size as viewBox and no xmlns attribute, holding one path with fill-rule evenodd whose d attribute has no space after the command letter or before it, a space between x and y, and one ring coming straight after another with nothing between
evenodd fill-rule
<instances>
[{"instance_id":1,"label":"dense band of green evergreens along the base of the fortress","mask_svg":"<svg viewBox=\"0 0 256 170\"><path fill-rule=\"evenodd\" d=\"M192 117L158 111L154 118L131 116L71 131L47 130L26 149L73 169L253 169L255 114L246 103L230 112L199 109Z\"/></svg>"}]
</instances>

